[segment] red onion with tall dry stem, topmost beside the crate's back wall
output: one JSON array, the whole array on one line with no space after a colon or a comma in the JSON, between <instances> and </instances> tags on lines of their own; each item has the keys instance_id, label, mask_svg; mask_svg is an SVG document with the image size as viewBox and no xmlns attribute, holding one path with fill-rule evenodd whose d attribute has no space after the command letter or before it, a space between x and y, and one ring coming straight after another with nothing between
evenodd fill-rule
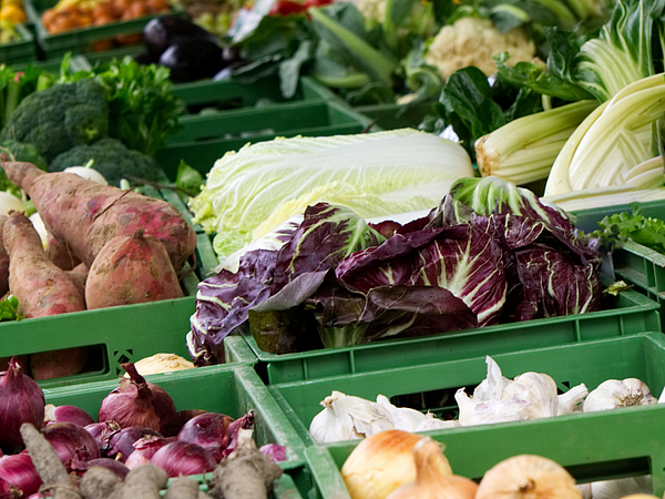
<instances>
[{"instance_id":1,"label":"red onion with tall dry stem, topmost beside the crate's back wall","mask_svg":"<svg viewBox=\"0 0 665 499\"><path fill-rule=\"evenodd\" d=\"M122 364L122 368L130 378L121 378L120 386L102 400L98 421L114 420L122 428L144 426L161 431L176 413L173 399L157 385L146 383L134 364Z\"/></svg>"}]
</instances>

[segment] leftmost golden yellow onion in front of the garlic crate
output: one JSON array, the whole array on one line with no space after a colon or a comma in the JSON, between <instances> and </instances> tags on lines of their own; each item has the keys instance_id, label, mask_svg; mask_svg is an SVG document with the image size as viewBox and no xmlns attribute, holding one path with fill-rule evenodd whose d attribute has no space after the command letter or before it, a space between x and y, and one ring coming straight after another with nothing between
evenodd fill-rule
<instances>
[{"instance_id":1,"label":"leftmost golden yellow onion in front of the garlic crate","mask_svg":"<svg viewBox=\"0 0 665 499\"><path fill-rule=\"evenodd\" d=\"M422 435L402 430L380 431L362 440L341 467L341 477L352 499L386 499L398 487L416 480L413 447ZM432 468L452 475L448 459L439 452Z\"/></svg>"}]
</instances>

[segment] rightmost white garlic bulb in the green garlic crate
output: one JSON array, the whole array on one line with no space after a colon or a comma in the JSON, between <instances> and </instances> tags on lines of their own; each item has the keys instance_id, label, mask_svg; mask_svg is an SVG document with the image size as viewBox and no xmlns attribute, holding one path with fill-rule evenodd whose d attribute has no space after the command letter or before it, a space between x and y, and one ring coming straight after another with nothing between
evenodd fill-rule
<instances>
[{"instance_id":1,"label":"rightmost white garlic bulb in the green garlic crate","mask_svg":"<svg viewBox=\"0 0 665 499\"><path fill-rule=\"evenodd\" d=\"M617 407L645 406L656 401L648 387L637 378L607 379L589 394L582 410L593 413Z\"/></svg>"}]
</instances>

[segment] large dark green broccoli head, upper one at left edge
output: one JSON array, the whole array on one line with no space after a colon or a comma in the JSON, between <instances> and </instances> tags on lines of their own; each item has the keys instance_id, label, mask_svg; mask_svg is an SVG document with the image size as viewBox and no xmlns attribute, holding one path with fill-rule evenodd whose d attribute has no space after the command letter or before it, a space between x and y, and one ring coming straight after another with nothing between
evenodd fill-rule
<instances>
[{"instance_id":1,"label":"large dark green broccoli head, upper one at left edge","mask_svg":"<svg viewBox=\"0 0 665 499\"><path fill-rule=\"evenodd\" d=\"M23 99L0 133L0 141L35 144L47 161L109 134L103 86L91 79L57 84Z\"/></svg>"}]
</instances>

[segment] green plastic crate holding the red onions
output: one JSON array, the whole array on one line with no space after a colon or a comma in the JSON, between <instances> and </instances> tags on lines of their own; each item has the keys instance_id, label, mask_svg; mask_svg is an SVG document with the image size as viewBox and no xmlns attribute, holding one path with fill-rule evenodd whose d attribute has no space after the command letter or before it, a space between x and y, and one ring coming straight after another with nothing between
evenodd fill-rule
<instances>
[{"instance_id":1,"label":"green plastic crate holding the red onions","mask_svg":"<svg viewBox=\"0 0 665 499\"><path fill-rule=\"evenodd\" d=\"M204 409L226 414L233 418L253 410L254 438L257 445L286 446L287 461L284 462L284 468L301 471L304 462L301 440L250 366L212 366L150 375L145 376L145 379L164 388L173 398L177 410ZM103 398L116 387L116 380L100 381L44 389L44 395L47 404L75 405L96 420ZM306 477L298 477L298 480L305 482ZM285 481L284 485L287 482Z\"/></svg>"}]
</instances>

